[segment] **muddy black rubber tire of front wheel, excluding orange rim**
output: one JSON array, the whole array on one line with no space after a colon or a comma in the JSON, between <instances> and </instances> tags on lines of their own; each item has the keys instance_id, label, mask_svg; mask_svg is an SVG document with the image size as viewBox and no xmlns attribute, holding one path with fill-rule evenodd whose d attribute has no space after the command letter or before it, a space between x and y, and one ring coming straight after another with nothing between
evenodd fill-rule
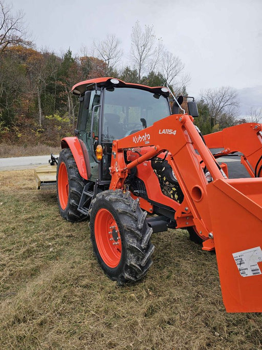
<instances>
[{"instance_id":1,"label":"muddy black rubber tire of front wheel, excluding orange rim","mask_svg":"<svg viewBox=\"0 0 262 350\"><path fill-rule=\"evenodd\" d=\"M121 268L117 267L117 269L110 269L103 262L96 246L94 233L96 213L101 208L109 210L111 207L117 215L115 219L120 222L122 248L123 244L125 248L125 257L121 257L118 265L121 265ZM138 200L134 200L128 191L125 193L121 190L103 191L98 193L92 201L90 229L94 253L106 275L116 280L119 285L138 281L146 275L152 264L151 256L155 246L150 242L152 229L148 227L146 215L147 213L141 210Z\"/></svg>"}]
</instances>

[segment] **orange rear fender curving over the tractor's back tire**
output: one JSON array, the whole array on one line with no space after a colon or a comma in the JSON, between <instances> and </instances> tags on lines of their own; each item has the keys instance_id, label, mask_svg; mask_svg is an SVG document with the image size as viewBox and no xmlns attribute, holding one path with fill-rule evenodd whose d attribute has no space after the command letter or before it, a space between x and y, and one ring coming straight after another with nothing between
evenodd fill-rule
<instances>
[{"instance_id":1,"label":"orange rear fender curving over the tractor's back tire","mask_svg":"<svg viewBox=\"0 0 262 350\"><path fill-rule=\"evenodd\" d=\"M78 137L64 137L61 140L61 148L70 148L76 162L79 174L85 180L91 177L88 150L82 140Z\"/></svg>"}]
</instances>

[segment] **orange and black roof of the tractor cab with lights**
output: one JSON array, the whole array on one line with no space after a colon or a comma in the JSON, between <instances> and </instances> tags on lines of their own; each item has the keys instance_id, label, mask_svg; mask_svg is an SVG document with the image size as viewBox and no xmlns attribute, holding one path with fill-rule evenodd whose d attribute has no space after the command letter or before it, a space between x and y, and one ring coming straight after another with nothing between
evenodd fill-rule
<instances>
[{"instance_id":1,"label":"orange and black roof of the tractor cab with lights","mask_svg":"<svg viewBox=\"0 0 262 350\"><path fill-rule=\"evenodd\" d=\"M112 79L118 80L119 83L118 84L112 83ZM100 87L134 88L134 89L147 90L150 92L164 95L166 97L169 96L169 89L167 89L167 91L161 90L161 89L165 88L163 86L150 87L150 86L140 85L140 84L125 83L123 80L111 78L111 77L96 78L96 79L89 79L89 80L80 81L80 83L77 83L73 86L71 92L74 95L81 96L86 90L93 90L93 87L95 84L99 88Z\"/></svg>"}]
</instances>

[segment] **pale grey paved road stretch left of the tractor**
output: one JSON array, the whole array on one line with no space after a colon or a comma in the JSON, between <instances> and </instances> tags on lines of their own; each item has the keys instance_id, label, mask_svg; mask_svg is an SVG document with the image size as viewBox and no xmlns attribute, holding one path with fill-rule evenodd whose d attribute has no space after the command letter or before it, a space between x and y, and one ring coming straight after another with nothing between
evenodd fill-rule
<instances>
[{"instance_id":1,"label":"pale grey paved road stretch left of the tractor","mask_svg":"<svg viewBox=\"0 0 262 350\"><path fill-rule=\"evenodd\" d=\"M58 155L55 155L58 157ZM33 156L33 157L12 157L12 158L0 158L0 171L3 170L21 170L21 169L33 169L42 164L48 164L48 156Z\"/></svg>"}]
</instances>

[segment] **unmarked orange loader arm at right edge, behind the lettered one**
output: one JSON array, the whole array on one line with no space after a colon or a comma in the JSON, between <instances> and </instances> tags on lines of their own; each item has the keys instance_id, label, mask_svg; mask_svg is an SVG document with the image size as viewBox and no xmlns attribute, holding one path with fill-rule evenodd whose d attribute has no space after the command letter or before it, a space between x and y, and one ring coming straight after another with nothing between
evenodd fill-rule
<instances>
[{"instance_id":1,"label":"unmarked orange loader arm at right edge, behind the lettered one","mask_svg":"<svg viewBox=\"0 0 262 350\"><path fill-rule=\"evenodd\" d=\"M251 177L258 177L261 166L262 125L245 123L205 135L208 148L223 148L221 155L241 152L241 162ZM260 159L260 161L259 161ZM256 172L255 172L256 170ZM261 173L262 175L262 173Z\"/></svg>"}]
</instances>

